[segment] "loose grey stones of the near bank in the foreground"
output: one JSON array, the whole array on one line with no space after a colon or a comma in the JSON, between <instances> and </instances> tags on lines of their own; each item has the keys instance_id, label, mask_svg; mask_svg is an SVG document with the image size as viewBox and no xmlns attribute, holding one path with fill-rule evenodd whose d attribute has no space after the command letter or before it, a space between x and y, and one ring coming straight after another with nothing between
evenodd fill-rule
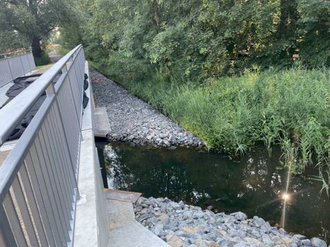
<instances>
[{"instance_id":1,"label":"loose grey stones of the near bank in the foreground","mask_svg":"<svg viewBox=\"0 0 330 247\"><path fill-rule=\"evenodd\" d=\"M138 222L172 247L327 247L322 239L287 233L261 217L202 211L168 198L139 198L134 211Z\"/></svg>"}]
</instances>

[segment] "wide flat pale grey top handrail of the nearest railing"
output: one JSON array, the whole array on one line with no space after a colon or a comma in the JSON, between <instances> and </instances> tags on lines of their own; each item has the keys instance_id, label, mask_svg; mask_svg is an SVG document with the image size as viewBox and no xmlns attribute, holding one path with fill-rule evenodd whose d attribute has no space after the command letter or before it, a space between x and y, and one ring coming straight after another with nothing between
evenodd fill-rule
<instances>
[{"instance_id":1,"label":"wide flat pale grey top handrail of the nearest railing","mask_svg":"<svg viewBox=\"0 0 330 247\"><path fill-rule=\"evenodd\" d=\"M10 133L20 123L21 119L28 113L40 95L42 95L47 87L52 83L56 75L60 73L77 51L82 49L82 45L78 45L68 54L63 56L61 60L56 62L50 69L45 71L34 83L22 91L17 97L14 97L7 105L0 110L0 145L2 145L9 137Z\"/></svg>"}]
</instances>

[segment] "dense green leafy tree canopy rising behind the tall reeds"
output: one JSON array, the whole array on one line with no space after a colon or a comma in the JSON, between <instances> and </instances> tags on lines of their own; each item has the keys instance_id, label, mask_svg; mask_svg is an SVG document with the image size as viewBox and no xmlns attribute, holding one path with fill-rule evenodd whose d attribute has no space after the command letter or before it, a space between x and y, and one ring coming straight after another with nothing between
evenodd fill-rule
<instances>
[{"instance_id":1,"label":"dense green leafy tree canopy rising behind the tall reeds","mask_svg":"<svg viewBox=\"0 0 330 247\"><path fill-rule=\"evenodd\" d=\"M80 8L96 60L143 60L188 78L330 62L326 0L94 0Z\"/></svg>"}]
</instances>

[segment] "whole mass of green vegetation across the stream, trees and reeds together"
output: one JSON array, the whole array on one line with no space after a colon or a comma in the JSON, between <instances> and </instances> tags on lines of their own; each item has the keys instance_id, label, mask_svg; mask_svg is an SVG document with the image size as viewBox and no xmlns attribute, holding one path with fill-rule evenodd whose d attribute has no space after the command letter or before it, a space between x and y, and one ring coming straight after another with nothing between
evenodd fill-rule
<instances>
[{"instance_id":1,"label":"whole mass of green vegetation across the stream, trees and reeds together","mask_svg":"<svg viewBox=\"0 0 330 247\"><path fill-rule=\"evenodd\" d=\"M330 176L330 3L77 1L63 44L232 155L281 145L285 165Z\"/></svg>"}]
</instances>

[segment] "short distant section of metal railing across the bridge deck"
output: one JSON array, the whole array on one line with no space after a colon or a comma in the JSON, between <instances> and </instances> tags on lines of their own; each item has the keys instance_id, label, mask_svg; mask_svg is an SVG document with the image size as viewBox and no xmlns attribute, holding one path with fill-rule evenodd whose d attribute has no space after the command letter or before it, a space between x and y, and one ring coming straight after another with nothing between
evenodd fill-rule
<instances>
[{"instance_id":1,"label":"short distant section of metal railing across the bridge deck","mask_svg":"<svg viewBox=\"0 0 330 247\"><path fill-rule=\"evenodd\" d=\"M36 69L31 51L0 54L0 87Z\"/></svg>"}]
</instances>

